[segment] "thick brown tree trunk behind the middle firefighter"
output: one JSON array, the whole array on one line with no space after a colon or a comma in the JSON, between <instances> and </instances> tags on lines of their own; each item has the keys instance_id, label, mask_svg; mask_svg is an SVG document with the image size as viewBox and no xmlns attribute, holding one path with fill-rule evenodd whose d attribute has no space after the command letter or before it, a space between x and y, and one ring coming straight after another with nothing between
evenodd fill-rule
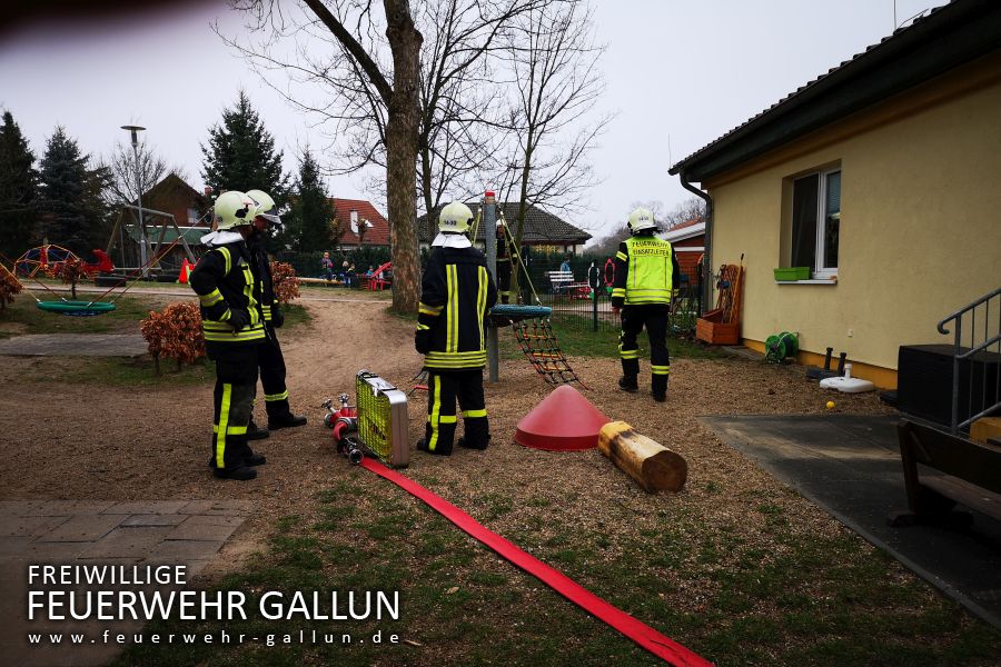
<instances>
[{"instance_id":1,"label":"thick brown tree trunk behind the middle firefighter","mask_svg":"<svg viewBox=\"0 0 1001 667\"><path fill-rule=\"evenodd\" d=\"M393 51L393 93L386 122L386 201L393 253L393 309L417 312L420 261L417 252L418 58L423 37L408 0L383 0L386 37Z\"/></svg>"}]
</instances>

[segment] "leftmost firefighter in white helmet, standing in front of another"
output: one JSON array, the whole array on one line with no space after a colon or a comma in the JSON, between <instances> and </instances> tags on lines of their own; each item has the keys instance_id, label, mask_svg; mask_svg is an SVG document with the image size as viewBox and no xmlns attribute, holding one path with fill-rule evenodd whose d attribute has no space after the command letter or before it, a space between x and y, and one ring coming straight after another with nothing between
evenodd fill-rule
<instances>
[{"instance_id":1,"label":"leftmost firefighter in white helmet, standing in front of another","mask_svg":"<svg viewBox=\"0 0 1001 667\"><path fill-rule=\"evenodd\" d=\"M202 237L209 251L189 282L201 306L208 356L216 362L211 467L216 477L254 479L265 458L247 445L257 386L257 350L265 339L260 291L246 239L257 205L230 190L216 200L216 230Z\"/></svg>"}]
</instances>

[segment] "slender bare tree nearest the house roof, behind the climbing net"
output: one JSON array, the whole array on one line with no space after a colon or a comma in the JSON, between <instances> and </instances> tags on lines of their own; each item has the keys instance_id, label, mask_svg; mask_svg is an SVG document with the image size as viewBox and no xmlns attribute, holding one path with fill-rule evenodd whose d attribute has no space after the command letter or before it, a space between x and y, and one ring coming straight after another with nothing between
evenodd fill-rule
<instances>
[{"instance_id":1,"label":"slender bare tree nearest the house roof, behind the climbing net","mask_svg":"<svg viewBox=\"0 0 1001 667\"><path fill-rule=\"evenodd\" d=\"M587 157L611 116L591 120L605 89L596 67L604 47L594 41L592 14L584 0L553 0L517 17L509 32L508 125L516 131L499 190L505 200L518 192L518 246L528 205L578 209L579 196L595 182Z\"/></svg>"}]
</instances>

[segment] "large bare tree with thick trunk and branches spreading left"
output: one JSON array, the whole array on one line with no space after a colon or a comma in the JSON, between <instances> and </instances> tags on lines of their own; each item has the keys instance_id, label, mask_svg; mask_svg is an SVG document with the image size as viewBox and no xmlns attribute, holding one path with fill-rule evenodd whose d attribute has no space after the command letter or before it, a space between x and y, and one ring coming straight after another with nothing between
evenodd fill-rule
<instances>
[{"instance_id":1,"label":"large bare tree with thick trunk and branches spreading left","mask_svg":"<svg viewBox=\"0 0 1001 667\"><path fill-rule=\"evenodd\" d=\"M416 312L420 276L416 233L419 53L424 38L409 0L383 0L377 16L370 0L301 0L305 9L284 11L276 0L231 0L247 12L251 29L265 34L256 47L227 40L264 69L281 69L293 82L320 83L334 94L325 101L281 91L296 107L335 121L351 151L375 158L381 147L393 252L393 308ZM276 44L287 38L291 53ZM388 58L386 51L388 50ZM272 84L274 87L274 84ZM377 110L375 115L371 110ZM366 146L373 129L380 138ZM375 159L366 163L375 162Z\"/></svg>"}]
</instances>

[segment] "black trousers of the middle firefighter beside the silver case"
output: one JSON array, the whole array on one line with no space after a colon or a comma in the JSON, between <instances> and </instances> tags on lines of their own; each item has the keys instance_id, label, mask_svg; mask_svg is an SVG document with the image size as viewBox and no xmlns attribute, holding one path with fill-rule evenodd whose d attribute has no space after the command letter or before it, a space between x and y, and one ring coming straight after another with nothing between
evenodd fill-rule
<instances>
[{"instance_id":1,"label":"black trousers of the middle firefighter beside the silver case","mask_svg":"<svg viewBox=\"0 0 1001 667\"><path fill-rule=\"evenodd\" d=\"M456 427L456 398L463 411L466 445L476 449L486 447L490 438L490 427L483 396L483 369L444 372L428 369L427 425L424 429L424 441L428 451L452 454Z\"/></svg>"}]
</instances>

